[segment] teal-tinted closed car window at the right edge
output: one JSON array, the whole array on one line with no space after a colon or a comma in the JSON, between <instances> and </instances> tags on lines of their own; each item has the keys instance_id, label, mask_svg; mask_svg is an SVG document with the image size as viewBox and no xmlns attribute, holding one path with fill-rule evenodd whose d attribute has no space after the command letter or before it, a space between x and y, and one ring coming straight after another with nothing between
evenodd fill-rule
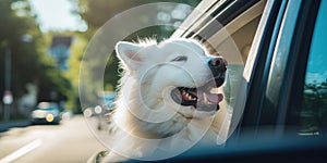
<instances>
[{"instance_id":1,"label":"teal-tinted closed car window at the right edge","mask_svg":"<svg viewBox=\"0 0 327 163\"><path fill-rule=\"evenodd\" d=\"M327 0L319 7L312 39L303 101L300 110L300 135L323 135L327 129Z\"/></svg>"}]
</instances>

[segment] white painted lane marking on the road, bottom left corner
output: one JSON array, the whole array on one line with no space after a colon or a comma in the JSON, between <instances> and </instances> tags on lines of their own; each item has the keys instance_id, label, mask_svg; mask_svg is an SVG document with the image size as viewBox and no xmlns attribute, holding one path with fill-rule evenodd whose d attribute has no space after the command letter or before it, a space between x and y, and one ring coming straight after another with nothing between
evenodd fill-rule
<instances>
[{"instance_id":1,"label":"white painted lane marking on the road, bottom left corner","mask_svg":"<svg viewBox=\"0 0 327 163\"><path fill-rule=\"evenodd\" d=\"M10 153L9 155L2 158L0 160L0 163L10 163L13 162L14 160L23 156L24 154L31 152L32 150L38 148L39 146L41 146L43 140L41 139L36 139L27 145L25 145L24 147L20 148L19 150Z\"/></svg>"}]
</instances>

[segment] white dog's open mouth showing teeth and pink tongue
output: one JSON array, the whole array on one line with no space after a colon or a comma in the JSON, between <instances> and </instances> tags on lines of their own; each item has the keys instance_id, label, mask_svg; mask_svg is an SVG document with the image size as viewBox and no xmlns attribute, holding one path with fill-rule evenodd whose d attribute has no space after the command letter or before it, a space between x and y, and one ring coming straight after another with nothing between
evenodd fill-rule
<instances>
[{"instance_id":1,"label":"white dog's open mouth showing teeth and pink tongue","mask_svg":"<svg viewBox=\"0 0 327 163\"><path fill-rule=\"evenodd\" d=\"M184 106L193 105L197 111L217 111L222 93L213 93L206 87L186 88L178 87L171 91L172 99Z\"/></svg>"}]
</instances>

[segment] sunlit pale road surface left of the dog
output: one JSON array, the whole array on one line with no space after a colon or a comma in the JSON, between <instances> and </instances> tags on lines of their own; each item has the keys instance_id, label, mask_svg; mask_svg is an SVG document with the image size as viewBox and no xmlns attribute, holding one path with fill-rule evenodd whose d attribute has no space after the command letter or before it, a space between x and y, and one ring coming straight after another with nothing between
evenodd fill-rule
<instances>
[{"instance_id":1,"label":"sunlit pale road surface left of the dog","mask_svg":"<svg viewBox=\"0 0 327 163\"><path fill-rule=\"evenodd\" d=\"M81 115L60 125L34 125L0 133L0 163L84 163L105 149Z\"/></svg>"}]
</instances>

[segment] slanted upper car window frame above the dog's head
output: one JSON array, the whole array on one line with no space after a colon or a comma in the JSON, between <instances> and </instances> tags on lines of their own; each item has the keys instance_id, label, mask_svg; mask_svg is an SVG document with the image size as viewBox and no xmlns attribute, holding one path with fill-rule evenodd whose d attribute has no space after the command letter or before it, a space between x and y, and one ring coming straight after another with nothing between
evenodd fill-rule
<instances>
[{"instance_id":1,"label":"slanted upper car window frame above the dog's head","mask_svg":"<svg viewBox=\"0 0 327 163\"><path fill-rule=\"evenodd\" d=\"M181 24L172 34L172 38L196 38L199 40L208 39L213 34L221 29L244 11L253 7L261 0L214 0L202 1L193 13ZM203 7L209 4L210 7ZM204 11L202 11L204 10ZM195 14L195 15L194 15ZM199 15L198 15L199 14ZM217 22L222 26L217 26ZM199 38L201 37L201 38Z\"/></svg>"}]
</instances>

